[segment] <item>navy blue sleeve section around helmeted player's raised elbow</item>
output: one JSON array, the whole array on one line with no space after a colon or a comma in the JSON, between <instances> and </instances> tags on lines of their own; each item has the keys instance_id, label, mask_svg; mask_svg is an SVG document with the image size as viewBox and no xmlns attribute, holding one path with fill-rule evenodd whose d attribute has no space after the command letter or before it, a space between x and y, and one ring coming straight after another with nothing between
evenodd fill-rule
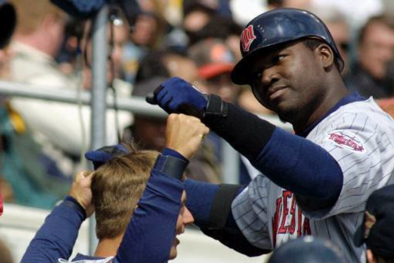
<instances>
[{"instance_id":1,"label":"navy blue sleeve section around helmeted player's raised elbow","mask_svg":"<svg viewBox=\"0 0 394 263\"><path fill-rule=\"evenodd\" d=\"M342 189L342 170L328 151L280 128L252 164L276 185L298 195L336 200Z\"/></svg>"}]
</instances>

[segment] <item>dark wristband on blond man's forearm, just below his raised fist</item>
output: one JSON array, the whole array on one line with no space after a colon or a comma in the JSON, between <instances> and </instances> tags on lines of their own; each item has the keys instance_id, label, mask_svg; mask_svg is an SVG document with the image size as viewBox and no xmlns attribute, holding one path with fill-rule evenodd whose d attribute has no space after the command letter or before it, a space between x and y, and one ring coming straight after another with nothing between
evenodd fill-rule
<instances>
[{"instance_id":1,"label":"dark wristband on blond man's forearm, just below his raised fist","mask_svg":"<svg viewBox=\"0 0 394 263\"><path fill-rule=\"evenodd\" d=\"M162 155L156 159L154 169L178 180L182 180L183 173L185 172L186 166L189 161L182 160L180 158L171 155Z\"/></svg>"}]
</instances>

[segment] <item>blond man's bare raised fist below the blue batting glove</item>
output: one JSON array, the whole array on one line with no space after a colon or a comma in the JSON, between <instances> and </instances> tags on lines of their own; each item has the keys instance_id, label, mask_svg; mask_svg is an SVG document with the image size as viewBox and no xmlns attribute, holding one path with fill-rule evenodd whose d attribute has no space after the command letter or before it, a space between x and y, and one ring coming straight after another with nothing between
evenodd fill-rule
<instances>
[{"instance_id":1,"label":"blond man's bare raised fist below the blue batting glove","mask_svg":"<svg viewBox=\"0 0 394 263\"><path fill-rule=\"evenodd\" d=\"M166 147L190 160L208 132L209 128L194 116L170 114L167 118Z\"/></svg>"}]
</instances>

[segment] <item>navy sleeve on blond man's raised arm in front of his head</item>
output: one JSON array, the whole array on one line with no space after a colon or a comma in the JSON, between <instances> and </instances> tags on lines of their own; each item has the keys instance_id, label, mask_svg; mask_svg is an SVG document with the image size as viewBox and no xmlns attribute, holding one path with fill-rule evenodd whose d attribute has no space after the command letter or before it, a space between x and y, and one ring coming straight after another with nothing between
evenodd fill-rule
<instances>
[{"instance_id":1,"label":"navy sleeve on blond man's raised arm in front of his head","mask_svg":"<svg viewBox=\"0 0 394 263\"><path fill-rule=\"evenodd\" d=\"M174 157L174 154L170 156ZM152 169L148 184L114 259L115 262L168 261L185 188L184 182L177 178L186 167L187 161L177 158L178 156L167 157L160 155Z\"/></svg>"}]
</instances>

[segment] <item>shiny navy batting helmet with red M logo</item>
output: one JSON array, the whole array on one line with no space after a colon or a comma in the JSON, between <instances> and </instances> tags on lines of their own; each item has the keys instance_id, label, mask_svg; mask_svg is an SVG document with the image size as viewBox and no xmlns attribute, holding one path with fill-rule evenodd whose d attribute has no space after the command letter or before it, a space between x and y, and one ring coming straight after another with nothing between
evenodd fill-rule
<instances>
[{"instance_id":1,"label":"shiny navy batting helmet with red M logo","mask_svg":"<svg viewBox=\"0 0 394 263\"><path fill-rule=\"evenodd\" d=\"M277 8L249 22L241 34L242 59L231 72L236 84L250 84L252 60L265 48L300 38L319 38L331 47L342 71L344 63L328 28L316 15L301 9Z\"/></svg>"}]
</instances>

